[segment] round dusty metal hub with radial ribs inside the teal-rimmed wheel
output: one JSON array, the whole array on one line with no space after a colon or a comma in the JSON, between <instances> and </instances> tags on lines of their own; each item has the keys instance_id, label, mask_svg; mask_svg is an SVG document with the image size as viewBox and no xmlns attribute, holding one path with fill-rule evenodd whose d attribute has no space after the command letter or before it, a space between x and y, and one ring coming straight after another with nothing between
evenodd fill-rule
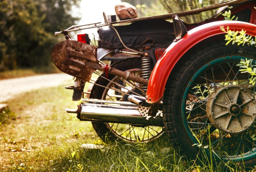
<instances>
[{"instance_id":1,"label":"round dusty metal hub with radial ribs inside the teal-rimmed wheel","mask_svg":"<svg viewBox=\"0 0 256 172\"><path fill-rule=\"evenodd\" d=\"M228 133L240 133L254 122L256 102L245 88L226 85L210 95L206 112L216 128Z\"/></svg>"}]
</instances>

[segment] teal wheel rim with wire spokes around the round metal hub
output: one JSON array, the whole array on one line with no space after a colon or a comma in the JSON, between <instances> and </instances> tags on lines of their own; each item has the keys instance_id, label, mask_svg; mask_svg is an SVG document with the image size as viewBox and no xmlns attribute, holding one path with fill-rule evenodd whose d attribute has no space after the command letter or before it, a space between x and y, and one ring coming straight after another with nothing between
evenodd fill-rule
<instances>
[{"instance_id":1,"label":"teal wheel rim with wire spokes around the round metal hub","mask_svg":"<svg viewBox=\"0 0 256 172\"><path fill-rule=\"evenodd\" d=\"M196 108L194 107L194 106L196 106L197 107L197 109L202 109L202 108L200 108L200 107L198 107L198 106L200 106L198 103L195 103L195 102L192 102L192 103L194 103L192 106L192 108L190 109L190 111L188 110L189 108L188 108L188 105L190 105L191 106L191 102L188 104L188 95L189 95L189 93L190 94L192 94L193 96L195 96L195 97L197 97L197 101L199 102L199 103L201 103L201 107L203 107L203 106L206 106L207 105L207 103L203 103L204 102L204 98L203 98L203 96L204 96L204 94L205 93L203 93L202 94L202 97L201 98L199 98L199 96L198 96L198 94L201 94L201 93L198 93L198 91L197 92L191 92L192 90L193 90L193 88L195 87L195 85L196 85L196 81L198 80L198 78L199 77L201 77L202 78L202 74L205 74L207 71L209 71L210 69L212 69L212 71L214 71L213 69L214 69L214 67L215 66L223 66L223 64L229 64L230 65L230 70L232 69L232 67L233 66L235 66L235 64L237 64L237 63L239 63L240 62L240 60L241 59L246 59L246 57L243 57L243 56L225 56L225 57L221 57L221 58L217 58L217 59L215 59L215 60L213 60L213 61L211 61L211 62L209 62L209 63L207 63L207 64L205 64L203 67L201 67L194 75L193 75L193 77L191 78L191 80L189 81L189 83L188 83L188 85L187 85L187 87L186 87L186 89L185 89L185 92L184 92L184 94L183 94L183 101L182 101L182 108L181 108L181 116L182 116L182 120L183 120L183 125L184 125L184 128L185 128L185 130L187 131L187 135L188 135L188 137L190 138L190 140L195 144L195 146L197 146L196 144L201 144L201 143L203 143L202 144L202 146L201 146L201 148L202 149L204 149L203 147L204 146L206 146L206 143L207 143L207 137L208 137L208 140L209 140L209 138L210 138L210 140L211 140L211 147L212 147L212 149L214 149L215 148L215 150L214 150L214 153L213 153L213 156L215 157L215 159L216 160L218 160L218 159L221 159L222 161L224 161L224 162L226 162L226 161L242 161L242 160L244 160L244 161L247 161L247 160L251 160L251 159L254 159L254 158L256 158L256 140L255 140L255 142L252 140L252 138L251 138L251 136L252 136L252 134L251 133L248 133L248 132L251 132L251 130L252 129L256 129L256 128L253 128L254 127L254 123L255 123L255 121L254 121L254 123L251 125L251 127L250 128L248 128L248 131L246 130L246 131L244 131L244 132L242 132L242 133L238 133L238 134L233 134L233 133L225 133L225 132L223 132L223 130L221 131L221 129L219 129L219 136L218 136L218 134L217 134L217 136L216 136L216 133L217 133L217 131L218 131L218 129L216 129L215 131L214 131L214 134L210 134L210 137L206 134L206 132L209 132L209 131L205 131L205 128L207 128L207 129L209 129L208 128L208 126L210 126L210 124L205 124L205 123L207 123L206 121L208 121L209 122L209 117L207 118L207 120L205 120L204 122L201 122L200 124L201 124L201 127L199 126L199 124L197 124L198 125L198 128L199 129L194 129L193 128L193 122L191 122L191 120L189 120L189 118L190 118L190 114L192 113L192 109L194 108L194 111L196 111ZM247 57L247 59L248 59L248 57ZM253 64L255 64L255 61L253 61ZM210 82L212 81L210 81L210 79L208 79L208 81L209 81L209 83L207 83L208 85L206 85L206 87L208 88L208 92L209 92L209 94L210 94L210 89L212 89L212 90L214 90L214 89L218 89L218 86L219 87L221 87L221 85L223 84L227 84L228 85L228 82L230 82L230 85L235 85L236 84L236 82L237 83L239 83L240 85L242 85L241 83L242 83L242 81L243 82L245 82L244 80L240 80L239 78L238 78L238 75L239 75L239 73L238 73L238 71L241 69L241 68L239 68L238 66L236 66L236 71L235 70L233 70L233 71L231 71L231 73L233 73L233 74L236 74L236 75L234 75L234 76L237 76L237 78L236 79L234 79L234 82L233 82L233 80L232 80L232 82L231 81L227 81L227 82L215 82L214 83L214 86L212 86L211 88L210 87L207 87L209 84L210 84ZM225 69L224 69L224 71L223 71L223 73L225 72ZM213 72L214 73L214 72ZM228 76L230 73L227 73L226 72L226 76ZM247 74L248 75L248 74ZM249 75L248 75L249 76ZM213 76L213 78L214 78L214 76ZM215 78L215 79L217 79L217 78ZM233 78L232 78L233 79ZM205 79L205 81L206 81L207 79ZM230 79L231 80L231 79ZM240 81L240 82L239 82ZM248 82L248 81L247 81ZM218 85L219 84L219 85ZM238 85L239 85L238 84ZM218 85L218 86L216 86L216 85ZM203 85L201 85L202 87L203 87ZM206 88L205 87L205 88ZM214 88L213 88L214 87ZM250 84L249 83L245 83L244 85L243 85L243 87L244 88L252 88L252 86L250 86ZM195 89L195 88L194 88ZM198 88L197 88L198 89ZM201 89L202 90L202 89ZM250 90L253 90L252 92L252 94L254 94L255 95L255 92L256 92L256 90L255 90L255 86L253 86L253 89L250 89ZM193 94L194 93L194 94ZM195 94L195 93L197 93L197 94ZM206 99L206 98L205 98ZM201 102L200 102L201 101ZM207 101L207 100L206 100ZM205 101L205 102L206 102ZM203 106L202 106L203 105ZM198 110L197 110L198 111ZM205 114L206 114L206 112L205 112ZM199 122L198 122L199 123ZM209 122L210 123L210 122ZM206 127L207 126L207 127ZM211 127L213 127L213 126L211 126ZM202 130L203 129L203 130ZM214 128L213 128L214 129ZM210 130L211 131L211 130ZM225 135L226 134L226 135ZM214 136L215 135L215 136ZM240 137L240 135L241 135L241 139L239 140L239 137ZM234 136L234 137L233 137ZM248 137L249 136L249 137ZM233 137L233 138L232 138ZM255 135L255 137L256 137L256 135ZM250 138L250 139L249 139ZM219 141L218 141L218 139L219 139ZM233 144L230 146L230 150L228 149L228 150L226 150L226 148L225 148L225 145L223 146L224 148L225 148L225 150L224 150L224 148L221 148L221 146L219 146L219 148L218 148L218 146L216 146L217 144L218 145L222 145L222 140L232 140L233 139ZM238 140L237 140L238 139ZM213 140L213 141L212 141ZM217 140L217 141L216 141ZM220 141L221 140L221 141ZM244 141L244 140L246 140L246 141ZM248 140L248 141L247 141ZM219 142L219 143L218 143ZM231 141L230 141L231 142ZM238 143L238 142L240 142L240 143ZM209 141L208 141L208 143L209 143ZM236 143L238 143L238 144L236 144ZM250 144L249 144L250 143ZM241 145L241 146L240 146ZM242 146L243 145L243 146ZM251 146L251 147L250 147ZM206 146L207 147L207 146ZM233 148L234 147L234 148ZM243 147L243 148L242 148ZM246 147L246 148L245 148ZM231 148L232 149L234 149L234 150L231 150ZM219 149L219 150L218 150ZM241 151L240 151L241 150ZM209 153L209 149L208 148L205 148L205 152L206 152L206 154L210 154ZM242 154L241 154L242 153ZM230 155L229 155L230 154Z\"/></svg>"}]
</instances>

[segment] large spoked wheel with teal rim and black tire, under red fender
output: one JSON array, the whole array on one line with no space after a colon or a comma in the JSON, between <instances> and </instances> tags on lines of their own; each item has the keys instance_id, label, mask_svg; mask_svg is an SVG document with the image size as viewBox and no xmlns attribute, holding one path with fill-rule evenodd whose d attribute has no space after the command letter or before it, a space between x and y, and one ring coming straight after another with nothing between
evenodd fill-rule
<instances>
[{"instance_id":1,"label":"large spoked wheel with teal rim and black tire, under red fender","mask_svg":"<svg viewBox=\"0 0 256 172\"><path fill-rule=\"evenodd\" d=\"M201 147L216 161L255 164L256 89L237 65L245 58L255 64L254 54L254 47L219 42L176 66L166 84L175 88L165 89L163 115L181 153L195 157Z\"/></svg>"}]
</instances>

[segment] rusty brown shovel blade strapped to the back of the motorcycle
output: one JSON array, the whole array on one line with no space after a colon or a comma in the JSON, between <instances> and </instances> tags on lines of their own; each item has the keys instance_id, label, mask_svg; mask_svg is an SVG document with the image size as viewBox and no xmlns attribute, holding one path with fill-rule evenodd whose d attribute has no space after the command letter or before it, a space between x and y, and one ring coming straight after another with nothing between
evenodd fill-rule
<instances>
[{"instance_id":1,"label":"rusty brown shovel blade strapped to the back of the motorcycle","mask_svg":"<svg viewBox=\"0 0 256 172\"><path fill-rule=\"evenodd\" d=\"M95 69L85 62L98 63L97 47L73 40L62 41L52 49L52 59L60 71L90 81Z\"/></svg>"}]
</instances>

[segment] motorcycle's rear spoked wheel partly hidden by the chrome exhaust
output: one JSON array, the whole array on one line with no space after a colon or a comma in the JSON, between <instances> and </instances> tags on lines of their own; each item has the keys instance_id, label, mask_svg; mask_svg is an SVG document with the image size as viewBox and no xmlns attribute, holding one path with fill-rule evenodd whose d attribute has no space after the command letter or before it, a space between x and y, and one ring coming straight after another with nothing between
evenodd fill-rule
<instances>
[{"instance_id":1,"label":"motorcycle's rear spoked wheel partly hidden by the chrome exhaust","mask_svg":"<svg viewBox=\"0 0 256 172\"><path fill-rule=\"evenodd\" d=\"M121 71L129 71L132 74L138 75L141 71L141 57L134 57L134 58L128 58L125 60L120 60L114 63L113 65L111 65L111 67ZM106 77L105 73L102 73L101 75ZM117 76L108 74L108 79L114 82L118 82L119 84L122 84L121 79ZM103 77L99 77L95 83L99 85L103 85L108 88L115 87L110 81L106 80ZM90 98L106 99L106 96L108 95L110 89L101 87L99 85L93 86L91 90ZM120 95L120 96L122 95L122 93L120 94L117 91L114 91L114 90L110 90L110 91L112 91L111 94ZM120 91L122 91L122 89L120 89ZM141 94L141 92L138 92L138 90L137 91L133 90L133 91L137 92L138 94ZM129 93L129 91L127 93ZM133 94L133 93L130 92L130 94ZM119 100L119 99L117 98L116 100ZM126 100L124 101L128 101L127 96L126 96ZM156 126L139 126L139 125L137 126L137 125L107 123L107 122L92 122L92 125L97 135L104 142L113 142L114 140L119 140L121 142L128 142L128 143L149 142L163 136L163 133L165 132L163 127L156 127Z\"/></svg>"}]
</instances>

